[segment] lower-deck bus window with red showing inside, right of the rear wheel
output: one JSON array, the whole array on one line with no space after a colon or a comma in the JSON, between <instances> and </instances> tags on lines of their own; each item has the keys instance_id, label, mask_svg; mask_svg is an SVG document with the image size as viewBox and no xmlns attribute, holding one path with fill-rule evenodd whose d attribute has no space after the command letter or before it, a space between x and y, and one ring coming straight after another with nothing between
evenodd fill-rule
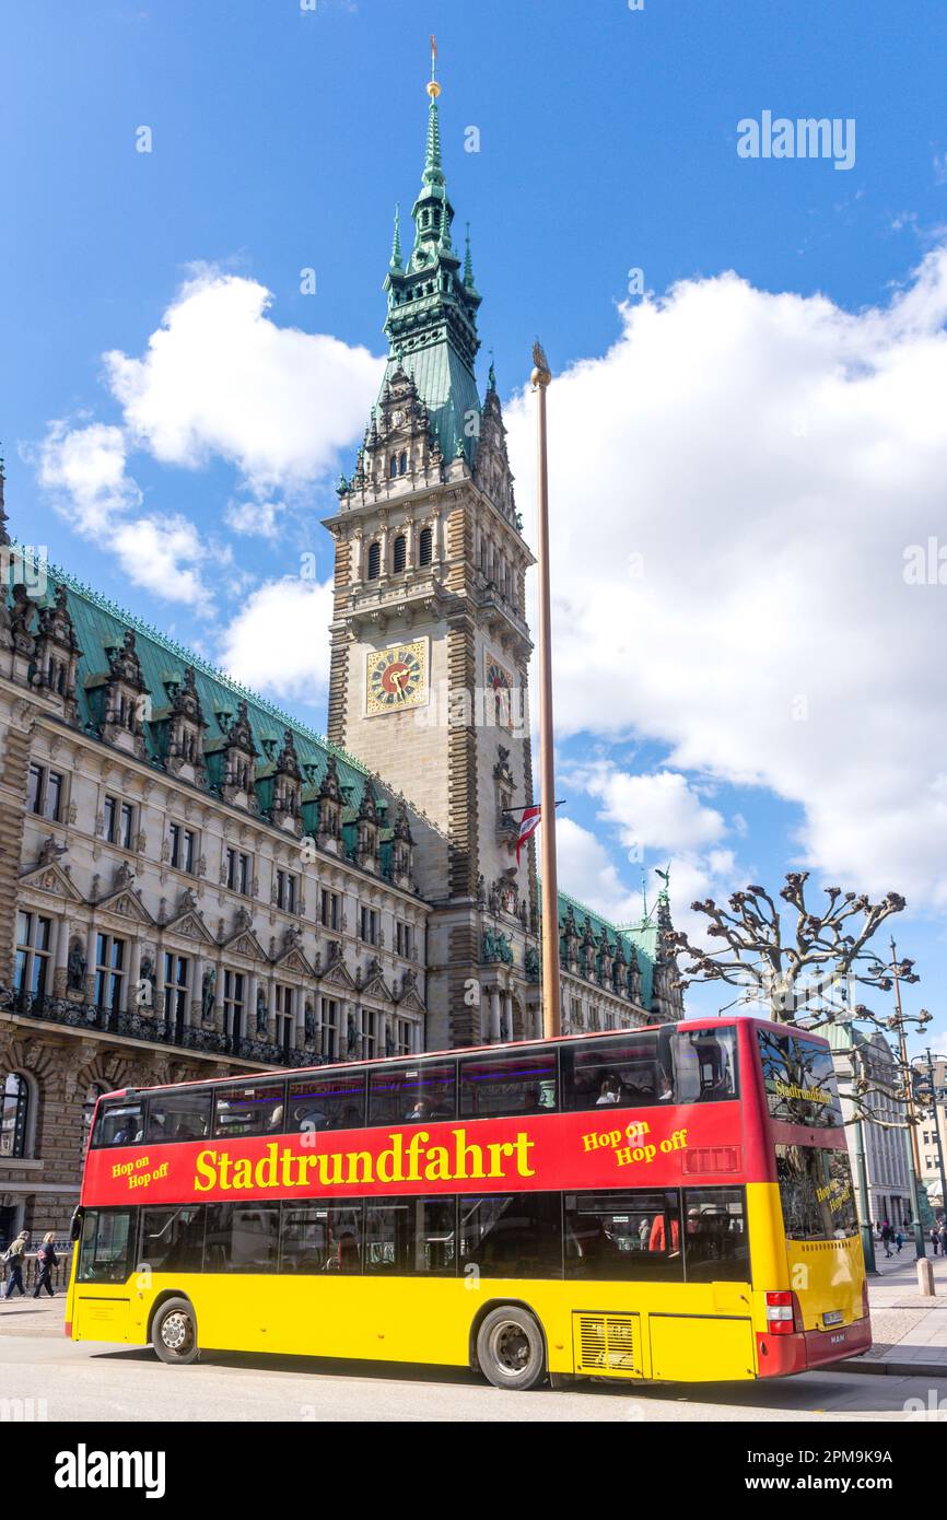
<instances>
[{"instance_id":1,"label":"lower-deck bus window with red showing inside, right of the rear wheel","mask_svg":"<svg viewBox=\"0 0 947 1520\"><path fill-rule=\"evenodd\" d=\"M567 1193L565 1275L679 1283L684 1269L678 1195Z\"/></svg>"}]
</instances>

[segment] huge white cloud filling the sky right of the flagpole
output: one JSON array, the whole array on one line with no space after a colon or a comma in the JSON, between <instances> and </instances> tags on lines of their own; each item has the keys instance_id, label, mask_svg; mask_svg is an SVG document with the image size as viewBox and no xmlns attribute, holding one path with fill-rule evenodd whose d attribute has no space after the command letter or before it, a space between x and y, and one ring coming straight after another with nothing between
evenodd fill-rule
<instances>
[{"instance_id":1,"label":"huge white cloud filling the sky right of the flagpole","mask_svg":"<svg viewBox=\"0 0 947 1520\"><path fill-rule=\"evenodd\" d=\"M947 543L945 318L947 249L859 313L692 280L549 389L561 734L768 787L801 804L807 862L939 904L947 585L903 572ZM506 420L534 538L529 395ZM713 834L681 801L649 781L654 827Z\"/></svg>"}]
</instances>

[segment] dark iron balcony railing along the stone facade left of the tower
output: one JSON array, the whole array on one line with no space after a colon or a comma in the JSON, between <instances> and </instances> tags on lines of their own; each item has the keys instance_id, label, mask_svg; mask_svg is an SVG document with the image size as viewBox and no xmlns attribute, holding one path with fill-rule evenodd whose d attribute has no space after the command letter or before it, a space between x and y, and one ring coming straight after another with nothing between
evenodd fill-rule
<instances>
[{"instance_id":1,"label":"dark iron balcony railing along the stone facade left of the tower","mask_svg":"<svg viewBox=\"0 0 947 1520\"><path fill-rule=\"evenodd\" d=\"M321 1066L324 1061L313 1050L284 1049L268 1040L252 1040L248 1035L233 1037L219 1029L202 1029L195 1024L179 1026L170 1018L149 1018L146 1014L128 1014L99 1003L73 1002L68 997L47 997L5 988L0 990L0 1011L20 1014L24 1018L49 1020L68 1029L116 1035L125 1040L144 1040L155 1046L172 1046L176 1050L230 1056L237 1061L258 1061L261 1066Z\"/></svg>"}]
</instances>

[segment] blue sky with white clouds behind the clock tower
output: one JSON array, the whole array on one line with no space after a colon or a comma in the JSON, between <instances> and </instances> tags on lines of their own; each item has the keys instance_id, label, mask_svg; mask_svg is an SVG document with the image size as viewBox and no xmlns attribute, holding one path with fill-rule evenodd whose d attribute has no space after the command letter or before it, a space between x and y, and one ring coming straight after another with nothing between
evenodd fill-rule
<instances>
[{"instance_id":1,"label":"blue sky with white clouds behind the clock tower","mask_svg":"<svg viewBox=\"0 0 947 1520\"><path fill-rule=\"evenodd\" d=\"M900 948L924 976L912 1000L936 1012L944 1041L947 692L932 649L947 591L909 596L900 570L901 547L942 526L947 461L930 407L945 374L936 260L947 239L947 12L933 0L8 8L0 436L14 530L261 684L240 663L248 641L266 648L261 622L240 619L255 606L272 629L307 549L328 573L319 518L351 467L369 356L383 353L380 286L394 201L407 216L418 187L432 30L448 188L456 225L471 222L483 293L480 377L493 348L527 524L517 392L537 333L569 372L552 413L561 769L575 825L562 885L625 917L637 856L652 882L675 857L681 918L693 891L777 883L801 859L813 882L891 885L909 898ZM765 109L853 119L854 166L740 158L737 122ZM135 149L141 126L147 154ZM470 128L477 152L465 150ZM302 269L315 295L301 293ZM629 298L631 269L646 301ZM266 309L254 309L258 287ZM182 301L210 313L198 331L219 333L222 353L243 331L261 340L269 394L286 386L298 418L280 404L261 421L252 386L226 415L198 383L169 397L188 374L184 331L167 389L150 385L149 339ZM296 353L284 340L293 328L339 347ZM220 360L223 380L233 368ZM774 406L762 410L768 389ZM721 394L733 406L717 416ZM646 410L655 398L660 416ZM774 415L800 454L812 450L784 497L797 465L769 436ZM286 435L310 427L318 438L299 461ZM64 444L90 438L102 447L79 479ZM641 550L648 565L640 590L602 570L608 622L593 605L594 559L570 582L572 549L594 532L605 559ZM141 568L149 544L167 556L164 584ZM833 588L838 616L825 613ZM790 644L809 675L797 678ZM727 648L739 651L733 667ZM318 724L319 660L272 687ZM588 666L602 670L591 707ZM838 690L813 666L835 672ZM797 730L778 730L783 696L804 701L798 754Z\"/></svg>"}]
</instances>

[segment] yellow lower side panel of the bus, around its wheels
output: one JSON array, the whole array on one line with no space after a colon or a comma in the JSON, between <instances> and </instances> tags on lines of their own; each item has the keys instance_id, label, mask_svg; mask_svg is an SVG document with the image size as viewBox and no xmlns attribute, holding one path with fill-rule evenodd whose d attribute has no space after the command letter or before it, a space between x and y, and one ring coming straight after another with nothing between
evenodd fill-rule
<instances>
[{"instance_id":1,"label":"yellow lower side panel of the bus, around its wheels","mask_svg":"<svg viewBox=\"0 0 947 1520\"><path fill-rule=\"evenodd\" d=\"M552 1373L673 1382L755 1376L746 1283L497 1278L468 1287L464 1278L157 1274L146 1290L129 1283L128 1294L119 1301L114 1284L76 1287L73 1338L143 1345L155 1303L175 1294L190 1298L205 1351L465 1366L480 1315L517 1303L540 1321Z\"/></svg>"}]
</instances>

